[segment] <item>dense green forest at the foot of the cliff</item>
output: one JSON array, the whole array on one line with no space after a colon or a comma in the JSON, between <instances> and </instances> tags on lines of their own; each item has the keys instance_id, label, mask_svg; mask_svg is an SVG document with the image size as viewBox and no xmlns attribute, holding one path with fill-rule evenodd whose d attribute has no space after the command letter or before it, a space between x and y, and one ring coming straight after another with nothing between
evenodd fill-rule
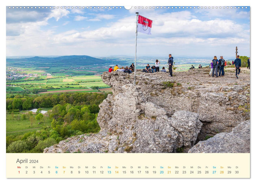
<instances>
[{"instance_id":1,"label":"dense green forest at the foot of the cliff","mask_svg":"<svg viewBox=\"0 0 256 184\"><path fill-rule=\"evenodd\" d=\"M59 143L68 137L97 133L100 127L96 121L99 104L107 97L104 93L60 93L30 96L16 95L6 99L6 113L13 118L14 112L22 113L31 125L36 120L44 123L50 119L50 126L30 131L23 135L6 136L8 153L41 153L46 147ZM47 114L40 113L41 108L52 107ZM30 109L38 108L36 114ZM12 116L11 116L12 115ZM11 119L11 118L10 118Z\"/></svg>"}]
</instances>

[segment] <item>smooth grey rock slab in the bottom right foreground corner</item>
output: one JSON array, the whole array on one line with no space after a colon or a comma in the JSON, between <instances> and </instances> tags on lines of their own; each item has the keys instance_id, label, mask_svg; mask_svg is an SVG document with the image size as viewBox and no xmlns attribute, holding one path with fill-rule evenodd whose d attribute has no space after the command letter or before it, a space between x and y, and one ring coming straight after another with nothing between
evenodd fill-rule
<instances>
[{"instance_id":1,"label":"smooth grey rock slab in the bottom right foreground corner","mask_svg":"<svg viewBox=\"0 0 256 184\"><path fill-rule=\"evenodd\" d=\"M240 123L229 133L199 141L189 153L250 153L250 120Z\"/></svg>"}]
</instances>

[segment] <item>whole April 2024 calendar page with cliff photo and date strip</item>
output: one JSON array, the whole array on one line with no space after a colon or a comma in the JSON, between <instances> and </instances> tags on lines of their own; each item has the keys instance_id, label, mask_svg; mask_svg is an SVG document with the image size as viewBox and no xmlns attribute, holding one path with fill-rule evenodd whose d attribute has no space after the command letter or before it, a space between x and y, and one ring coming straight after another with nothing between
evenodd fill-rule
<instances>
[{"instance_id":1,"label":"whole April 2024 calendar page with cliff photo and date strip","mask_svg":"<svg viewBox=\"0 0 256 184\"><path fill-rule=\"evenodd\" d=\"M250 6L72 4L6 6L6 178L250 178Z\"/></svg>"}]
</instances>

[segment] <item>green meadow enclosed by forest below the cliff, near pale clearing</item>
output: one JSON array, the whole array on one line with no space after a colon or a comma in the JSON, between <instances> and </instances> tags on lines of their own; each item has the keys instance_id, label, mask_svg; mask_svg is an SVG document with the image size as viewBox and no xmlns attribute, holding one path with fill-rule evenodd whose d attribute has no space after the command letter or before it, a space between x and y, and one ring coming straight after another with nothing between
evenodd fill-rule
<instances>
[{"instance_id":1,"label":"green meadow enclosed by forest below the cliff, near pale clearing","mask_svg":"<svg viewBox=\"0 0 256 184\"><path fill-rule=\"evenodd\" d=\"M46 110L46 109L44 109ZM27 111L23 111L26 113ZM35 120L31 125L31 122L28 120L28 116L26 119L21 118L22 113L14 112L13 117L11 113L7 113L6 119L6 136L8 135L23 135L27 132L36 131L42 129L44 123L38 124L39 120ZM36 117L33 114L33 117ZM51 119L44 115L45 117L45 126L51 126Z\"/></svg>"}]
</instances>

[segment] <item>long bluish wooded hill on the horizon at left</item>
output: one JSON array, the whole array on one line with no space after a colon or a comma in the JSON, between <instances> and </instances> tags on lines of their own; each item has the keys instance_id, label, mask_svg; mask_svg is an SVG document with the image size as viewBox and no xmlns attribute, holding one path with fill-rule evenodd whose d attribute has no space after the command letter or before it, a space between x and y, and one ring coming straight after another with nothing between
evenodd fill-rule
<instances>
[{"instance_id":1,"label":"long bluish wooded hill on the horizon at left","mask_svg":"<svg viewBox=\"0 0 256 184\"><path fill-rule=\"evenodd\" d=\"M84 66L94 64L106 64L109 61L90 57L88 55L69 55L55 58L47 57L32 57L32 58L17 58L6 59L7 66L25 66L34 65L36 67L57 67L57 66Z\"/></svg>"}]
</instances>

